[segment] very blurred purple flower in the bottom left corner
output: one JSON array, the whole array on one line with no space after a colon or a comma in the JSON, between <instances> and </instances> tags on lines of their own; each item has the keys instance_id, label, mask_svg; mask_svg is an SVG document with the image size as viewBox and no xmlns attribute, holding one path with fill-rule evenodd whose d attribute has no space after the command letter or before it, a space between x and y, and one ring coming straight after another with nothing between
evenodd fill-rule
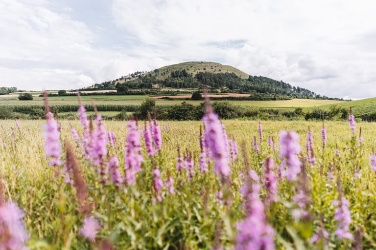
<instances>
[{"instance_id":1,"label":"very blurred purple flower in the bottom left corner","mask_svg":"<svg viewBox=\"0 0 376 250\"><path fill-rule=\"evenodd\" d=\"M26 249L29 235L22 219L24 212L13 202L0 205L0 249Z\"/></svg>"}]
</instances>

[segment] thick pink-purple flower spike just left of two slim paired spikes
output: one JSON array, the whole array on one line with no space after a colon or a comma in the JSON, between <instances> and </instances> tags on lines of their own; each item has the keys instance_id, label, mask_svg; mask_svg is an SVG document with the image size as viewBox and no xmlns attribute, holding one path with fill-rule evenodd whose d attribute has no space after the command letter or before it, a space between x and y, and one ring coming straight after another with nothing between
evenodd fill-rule
<instances>
[{"instance_id":1,"label":"thick pink-purple flower spike just left of two slim paired spikes","mask_svg":"<svg viewBox=\"0 0 376 250\"><path fill-rule=\"evenodd\" d=\"M125 180L128 184L135 182L135 174L141 171L143 157L141 155L140 134L135 120L128 122L127 146L124 154Z\"/></svg>"}]
</instances>

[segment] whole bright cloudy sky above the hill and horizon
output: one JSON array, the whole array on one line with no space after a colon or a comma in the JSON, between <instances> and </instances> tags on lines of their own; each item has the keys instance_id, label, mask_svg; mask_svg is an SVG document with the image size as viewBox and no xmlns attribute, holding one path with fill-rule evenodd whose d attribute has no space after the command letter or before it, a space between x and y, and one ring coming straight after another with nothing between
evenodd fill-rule
<instances>
[{"instance_id":1,"label":"whole bright cloudy sky above the hill and horizon","mask_svg":"<svg viewBox=\"0 0 376 250\"><path fill-rule=\"evenodd\" d=\"M0 0L0 86L74 89L186 61L376 97L375 0Z\"/></svg>"}]
</instances>

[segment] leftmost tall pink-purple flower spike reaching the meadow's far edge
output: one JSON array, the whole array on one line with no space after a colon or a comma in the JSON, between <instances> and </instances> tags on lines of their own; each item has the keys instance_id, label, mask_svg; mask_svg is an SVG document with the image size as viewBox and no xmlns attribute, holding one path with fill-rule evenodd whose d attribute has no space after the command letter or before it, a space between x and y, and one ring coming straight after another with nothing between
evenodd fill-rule
<instances>
[{"instance_id":1,"label":"leftmost tall pink-purple flower spike reaching the meadow's far edge","mask_svg":"<svg viewBox=\"0 0 376 250\"><path fill-rule=\"evenodd\" d=\"M51 112L47 112L47 123L45 125L45 133L43 137L45 141L46 158L51 157L49 166L60 166L62 164L60 160L61 146L60 146L60 133L57 130L57 124L53 119Z\"/></svg>"}]
</instances>

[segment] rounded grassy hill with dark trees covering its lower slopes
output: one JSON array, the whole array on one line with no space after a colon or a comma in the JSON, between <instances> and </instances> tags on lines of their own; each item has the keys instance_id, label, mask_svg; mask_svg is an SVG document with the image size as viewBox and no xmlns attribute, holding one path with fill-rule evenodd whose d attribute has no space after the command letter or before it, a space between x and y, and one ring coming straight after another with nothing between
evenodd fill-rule
<instances>
[{"instance_id":1,"label":"rounded grassy hill with dark trees covering its lower slopes","mask_svg":"<svg viewBox=\"0 0 376 250\"><path fill-rule=\"evenodd\" d=\"M252 76L229 65L217 62L182 62L167 65L149 72L137 71L116 80L81 88L79 90L117 89L125 92L128 89L203 89L208 88L218 92L235 92L247 94L260 94L267 96L261 100L288 100L292 98L303 99L331 99L321 96L299 86L274 80L263 76Z\"/></svg>"}]
</instances>

